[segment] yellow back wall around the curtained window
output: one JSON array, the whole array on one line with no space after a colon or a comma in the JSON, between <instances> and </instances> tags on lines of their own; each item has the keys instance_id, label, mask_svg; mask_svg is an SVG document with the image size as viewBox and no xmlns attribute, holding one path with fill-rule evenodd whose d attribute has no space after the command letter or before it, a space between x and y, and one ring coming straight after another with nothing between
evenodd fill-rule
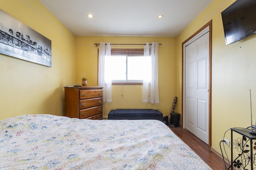
<instances>
[{"instance_id":1,"label":"yellow back wall around the curtained window","mask_svg":"<svg viewBox=\"0 0 256 170\"><path fill-rule=\"evenodd\" d=\"M94 43L144 44L158 42L158 86L159 104L142 102L142 85L113 85L112 100L103 104L103 117L111 109L152 108L161 109L169 115L176 95L176 38L172 37L76 37L76 82L82 84L82 77L88 78L87 86L98 86L98 47ZM112 48L144 48L143 45L113 45ZM179 99L178 99L179 102Z\"/></svg>"}]
</instances>

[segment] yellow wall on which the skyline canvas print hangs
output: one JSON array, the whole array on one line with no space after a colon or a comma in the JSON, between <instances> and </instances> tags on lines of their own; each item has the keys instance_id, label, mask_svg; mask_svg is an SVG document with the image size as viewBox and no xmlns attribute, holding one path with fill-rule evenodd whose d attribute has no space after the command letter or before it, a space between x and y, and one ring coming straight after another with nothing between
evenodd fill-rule
<instances>
[{"instance_id":1,"label":"yellow wall on which the skyline canvas print hangs","mask_svg":"<svg viewBox=\"0 0 256 170\"><path fill-rule=\"evenodd\" d=\"M0 54L0 119L64 115L64 88L75 82L75 36L39 0L0 0L0 9L52 41L52 67Z\"/></svg>"}]
</instances>

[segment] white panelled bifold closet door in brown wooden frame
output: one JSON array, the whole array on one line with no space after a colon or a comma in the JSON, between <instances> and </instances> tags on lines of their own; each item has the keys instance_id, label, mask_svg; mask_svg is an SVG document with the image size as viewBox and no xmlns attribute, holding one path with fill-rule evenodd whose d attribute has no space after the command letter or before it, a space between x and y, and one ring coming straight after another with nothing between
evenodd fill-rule
<instances>
[{"instance_id":1,"label":"white panelled bifold closet door in brown wooden frame","mask_svg":"<svg viewBox=\"0 0 256 170\"><path fill-rule=\"evenodd\" d=\"M209 144L209 32L185 49L185 126Z\"/></svg>"}]
</instances>

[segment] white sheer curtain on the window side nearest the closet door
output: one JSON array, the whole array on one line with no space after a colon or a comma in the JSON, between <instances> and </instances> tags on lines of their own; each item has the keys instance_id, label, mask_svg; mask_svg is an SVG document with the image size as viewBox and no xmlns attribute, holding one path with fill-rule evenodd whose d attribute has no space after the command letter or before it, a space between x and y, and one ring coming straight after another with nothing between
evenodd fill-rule
<instances>
[{"instance_id":1,"label":"white sheer curtain on the window side nearest the closet door","mask_svg":"<svg viewBox=\"0 0 256 170\"><path fill-rule=\"evenodd\" d=\"M150 73L148 78L143 80L143 96L142 102L159 103L158 95L158 43L153 42L152 45L146 43L144 46L144 57L150 57Z\"/></svg>"}]
</instances>

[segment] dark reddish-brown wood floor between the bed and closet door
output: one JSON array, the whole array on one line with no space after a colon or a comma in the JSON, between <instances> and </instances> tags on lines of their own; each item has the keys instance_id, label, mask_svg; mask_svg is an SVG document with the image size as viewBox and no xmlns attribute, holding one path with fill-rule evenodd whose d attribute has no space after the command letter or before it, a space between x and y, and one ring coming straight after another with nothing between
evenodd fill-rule
<instances>
[{"instance_id":1,"label":"dark reddish-brown wood floor between the bed and closet door","mask_svg":"<svg viewBox=\"0 0 256 170\"><path fill-rule=\"evenodd\" d=\"M170 129L213 170L226 170L222 157L210 150L206 143L198 139L195 135L190 133L190 131L181 127L170 127ZM226 166L228 165L226 164Z\"/></svg>"}]
</instances>

